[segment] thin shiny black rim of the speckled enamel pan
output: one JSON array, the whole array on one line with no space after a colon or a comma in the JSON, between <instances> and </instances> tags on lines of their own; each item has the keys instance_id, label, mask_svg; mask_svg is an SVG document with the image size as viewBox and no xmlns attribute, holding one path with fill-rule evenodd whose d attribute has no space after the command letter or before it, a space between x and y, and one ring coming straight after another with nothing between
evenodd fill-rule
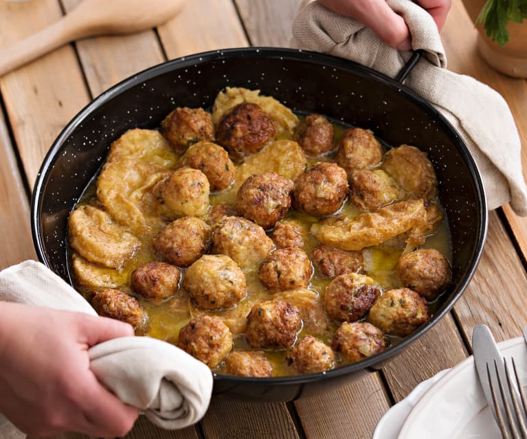
<instances>
[{"instance_id":1,"label":"thin shiny black rim of the speckled enamel pan","mask_svg":"<svg viewBox=\"0 0 527 439\"><path fill-rule=\"evenodd\" d=\"M451 137L454 144L458 146L458 150L462 155L465 164L473 178L475 183L475 188L477 190L478 196L478 210L480 211L480 221L478 224L478 235L476 239L475 250L471 258L471 264L467 267L463 277L460 279L460 282L456 288L451 293L449 299L440 306L438 311L434 313L434 316L430 319L429 322L421 326L416 332L414 332L410 337L407 337L401 343L396 346L376 354L369 359L359 361L358 363L352 363L350 365L343 365L339 368L328 370L326 372L317 372L315 374L304 374L304 375L295 375L295 376L284 376L276 378L249 378L245 376L231 376L231 375L221 375L214 374L214 379L225 381L226 383L232 382L233 384L238 383L251 383L251 384L262 384L262 385L302 385L304 383L312 383L314 381L321 381L322 379L329 379L336 376L342 376L350 374L352 372L357 372L359 370L371 368L373 365L378 363L383 363L388 360L390 357L401 352L408 345L412 344L416 339L421 337L424 333L427 332L434 324L436 324L446 313L448 313L453 304L459 299L460 295L464 289L469 284L473 273L478 267L478 262L480 261L481 254L483 251L484 241L486 238L486 232L488 227L488 218L489 214L486 207L486 196L484 192L484 187L481 179L478 166L475 164L467 145L464 143L462 137L458 134L455 128L451 126L448 120L445 119L436 109L434 109L429 102L421 98L420 95L412 91L411 89L401 85L401 83L396 82L396 80L389 78L383 74L380 74L378 71L374 71L363 65L359 65L349 60L344 60L342 58L337 58L335 56L319 54L317 52L308 52L298 49L282 49L276 47L249 47L249 48L236 48L236 49L221 49L214 50L211 52L203 52L201 54L195 54L192 56L183 56L182 58L177 58L175 60L170 60L166 63L161 63L157 66L150 67L144 71L139 72L119 82L117 85L114 85L107 91L104 91L98 98L94 99L91 103L85 106L72 120L65 126L63 131L58 135L55 142L52 144L51 148L43 161L41 169L36 176L36 181L34 184L34 190L32 195L31 202L31 224L32 224L32 236L33 242L36 249L36 254L38 259L43 262L47 267L49 267L49 262L45 258L45 249L43 246L43 236L41 234L40 222L41 222L41 190L43 184L47 179L49 170L54 166L56 157L60 152L60 149L63 147L63 144L68 139L69 135L76 128L82 124L89 115L97 109L99 106L105 102L115 98L115 96L123 93L131 87L135 87L138 83L150 80L155 76L160 74L165 74L173 69L179 69L181 67L191 67L193 65L206 62L211 59L232 59L232 58L246 58L246 57L262 57L262 58L280 58L283 60L309 60L311 62L320 63L328 67L338 67L339 69L344 69L352 71L354 74L359 74L361 76L373 79L386 87L400 91L405 95L407 100L410 100L414 104L417 104L425 113L428 113L433 119L438 120L442 126L445 127L445 131Z\"/></svg>"}]
</instances>

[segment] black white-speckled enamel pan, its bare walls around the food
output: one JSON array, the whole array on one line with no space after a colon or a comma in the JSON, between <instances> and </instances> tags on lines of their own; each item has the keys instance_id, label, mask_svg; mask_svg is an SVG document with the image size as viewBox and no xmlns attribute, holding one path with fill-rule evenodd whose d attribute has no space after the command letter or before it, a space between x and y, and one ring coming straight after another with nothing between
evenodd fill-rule
<instances>
[{"instance_id":1,"label":"black white-speckled enamel pan, its bare walls around the food","mask_svg":"<svg viewBox=\"0 0 527 439\"><path fill-rule=\"evenodd\" d=\"M129 128L157 128L175 106L212 105L225 87L260 89L293 111L322 113L392 146L427 153L452 238L452 282L430 321L400 344L335 370L267 379L214 376L214 394L291 401L381 367L447 313L471 280L482 254L487 210L478 172L460 135L428 102L396 80L333 56L294 49L225 49L157 65L102 93L64 128L36 177L31 208L38 258L71 284L67 216L100 169L111 142Z\"/></svg>"}]
</instances>

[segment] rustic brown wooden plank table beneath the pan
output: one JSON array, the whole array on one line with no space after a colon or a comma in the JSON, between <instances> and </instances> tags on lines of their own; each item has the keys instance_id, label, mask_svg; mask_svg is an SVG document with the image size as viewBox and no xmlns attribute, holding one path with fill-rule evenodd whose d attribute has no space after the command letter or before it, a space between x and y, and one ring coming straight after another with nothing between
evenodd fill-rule
<instances>
[{"instance_id":1,"label":"rustic brown wooden plank table beneath the pan","mask_svg":"<svg viewBox=\"0 0 527 439\"><path fill-rule=\"evenodd\" d=\"M0 0L0 47L56 21L79 1ZM0 269L36 258L29 219L32 185L56 135L85 104L115 82L167 59L226 47L287 46L297 2L188 1L181 14L157 29L80 41L0 78ZM453 1L442 38L451 70L497 89L511 106L525 163L527 81L484 64L460 0ZM521 334L527 323L526 255L527 218L508 206L491 212L482 260L453 311L380 372L294 403L213 400L199 425L182 431L157 429L140 418L127 438L369 438L379 418L416 384L471 353L476 324L489 324L498 341Z\"/></svg>"}]
</instances>

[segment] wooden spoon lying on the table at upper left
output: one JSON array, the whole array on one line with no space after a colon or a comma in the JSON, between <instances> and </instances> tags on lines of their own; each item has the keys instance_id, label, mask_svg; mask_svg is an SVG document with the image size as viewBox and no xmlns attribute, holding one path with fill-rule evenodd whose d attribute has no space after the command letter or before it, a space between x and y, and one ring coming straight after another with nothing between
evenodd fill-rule
<instances>
[{"instance_id":1,"label":"wooden spoon lying on the table at upper left","mask_svg":"<svg viewBox=\"0 0 527 439\"><path fill-rule=\"evenodd\" d=\"M84 0L56 23L0 50L0 76L71 41L155 27L182 6L183 0Z\"/></svg>"}]
</instances>

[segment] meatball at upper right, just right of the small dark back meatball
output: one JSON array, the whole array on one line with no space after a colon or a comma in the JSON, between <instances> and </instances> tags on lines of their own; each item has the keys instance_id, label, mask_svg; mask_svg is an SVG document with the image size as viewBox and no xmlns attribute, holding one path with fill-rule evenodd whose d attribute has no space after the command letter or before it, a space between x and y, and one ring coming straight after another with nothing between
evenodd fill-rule
<instances>
[{"instance_id":1,"label":"meatball at upper right, just right of the small dark back meatball","mask_svg":"<svg viewBox=\"0 0 527 439\"><path fill-rule=\"evenodd\" d=\"M344 133L335 161L348 174L356 170L372 169L381 163L383 147L372 131L351 128Z\"/></svg>"}]
</instances>

